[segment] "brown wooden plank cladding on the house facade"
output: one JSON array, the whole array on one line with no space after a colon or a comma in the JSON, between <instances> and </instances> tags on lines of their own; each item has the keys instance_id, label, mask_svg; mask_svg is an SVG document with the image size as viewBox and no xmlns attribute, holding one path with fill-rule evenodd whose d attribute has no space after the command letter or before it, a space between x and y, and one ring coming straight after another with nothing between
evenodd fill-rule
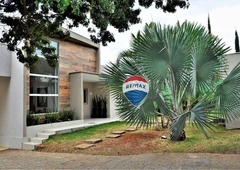
<instances>
[{"instance_id":1,"label":"brown wooden plank cladding on the house facade","mask_svg":"<svg viewBox=\"0 0 240 170\"><path fill-rule=\"evenodd\" d=\"M68 41L59 41L59 106L61 109L70 107L71 72L96 73L97 49L82 46Z\"/></svg>"}]
</instances>

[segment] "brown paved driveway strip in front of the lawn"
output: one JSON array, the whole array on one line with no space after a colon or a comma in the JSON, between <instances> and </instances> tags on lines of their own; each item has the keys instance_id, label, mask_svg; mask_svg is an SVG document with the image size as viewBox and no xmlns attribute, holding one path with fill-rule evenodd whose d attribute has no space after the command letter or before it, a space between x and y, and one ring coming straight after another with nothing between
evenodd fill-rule
<instances>
[{"instance_id":1,"label":"brown paved driveway strip in front of the lawn","mask_svg":"<svg viewBox=\"0 0 240 170\"><path fill-rule=\"evenodd\" d=\"M0 151L0 169L240 169L240 155L157 153L99 156Z\"/></svg>"}]
</instances>

